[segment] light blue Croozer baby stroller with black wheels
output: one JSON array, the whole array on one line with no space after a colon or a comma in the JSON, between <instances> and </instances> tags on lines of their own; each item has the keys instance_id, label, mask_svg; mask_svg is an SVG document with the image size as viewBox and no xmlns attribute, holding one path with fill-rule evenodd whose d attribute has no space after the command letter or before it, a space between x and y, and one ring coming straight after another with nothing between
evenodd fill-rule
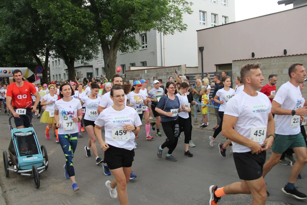
<instances>
[{"instance_id":1,"label":"light blue Croozer baby stroller with black wheels","mask_svg":"<svg viewBox=\"0 0 307 205\"><path fill-rule=\"evenodd\" d=\"M27 116L27 115L24 115ZM35 187L40 187L40 173L48 169L48 155L44 145L38 143L33 124L29 128L13 128L11 118L9 119L12 139L9 145L9 159L6 151L3 151L3 165L6 177L9 177L9 171L19 175L30 176L33 179ZM29 121L31 120L29 116ZM14 169L9 168L12 166ZM32 172L26 174L26 172Z\"/></svg>"}]
</instances>

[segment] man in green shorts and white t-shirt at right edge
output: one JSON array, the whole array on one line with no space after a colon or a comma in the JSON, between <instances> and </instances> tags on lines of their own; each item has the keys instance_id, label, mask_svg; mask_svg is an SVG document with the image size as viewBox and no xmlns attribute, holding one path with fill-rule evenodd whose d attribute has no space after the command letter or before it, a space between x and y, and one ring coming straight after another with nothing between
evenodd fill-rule
<instances>
[{"instance_id":1,"label":"man in green shorts and white t-shirt at right edge","mask_svg":"<svg viewBox=\"0 0 307 205\"><path fill-rule=\"evenodd\" d=\"M294 183L297 175L303 170L307 162L306 143L301 134L300 122L307 115L307 107L303 107L299 84L305 81L303 64L293 64L289 67L290 81L283 84L272 101L272 113L275 114L276 139L272 145L272 155L264 164L263 177L279 162L282 153L292 148L297 156L288 183L282 192L297 199L306 199L304 193L299 192Z\"/></svg>"}]
</instances>

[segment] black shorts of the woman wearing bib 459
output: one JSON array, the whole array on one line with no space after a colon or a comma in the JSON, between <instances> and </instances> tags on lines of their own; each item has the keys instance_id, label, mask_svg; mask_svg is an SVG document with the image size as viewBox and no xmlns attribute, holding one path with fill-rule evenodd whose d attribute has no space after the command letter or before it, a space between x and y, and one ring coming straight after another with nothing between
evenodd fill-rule
<instances>
[{"instance_id":1,"label":"black shorts of the woman wearing bib 459","mask_svg":"<svg viewBox=\"0 0 307 205\"><path fill-rule=\"evenodd\" d=\"M114 147L109 144L109 148L104 152L103 161L107 163L108 167L118 169L122 167L131 167L134 157L134 150L127 150L124 148Z\"/></svg>"}]
</instances>

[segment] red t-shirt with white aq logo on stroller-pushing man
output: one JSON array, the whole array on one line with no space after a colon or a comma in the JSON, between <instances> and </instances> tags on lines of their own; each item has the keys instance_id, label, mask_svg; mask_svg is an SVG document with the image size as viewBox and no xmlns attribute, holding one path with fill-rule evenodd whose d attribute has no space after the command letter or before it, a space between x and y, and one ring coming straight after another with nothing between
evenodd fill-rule
<instances>
[{"instance_id":1,"label":"red t-shirt with white aq logo on stroller-pushing man","mask_svg":"<svg viewBox=\"0 0 307 205\"><path fill-rule=\"evenodd\" d=\"M23 81L23 86L18 87L16 82L7 87L6 96L12 97L12 106L16 108L30 108L32 106L31 93L36 93L32 83Z\"/></svg>"}]
</instances>

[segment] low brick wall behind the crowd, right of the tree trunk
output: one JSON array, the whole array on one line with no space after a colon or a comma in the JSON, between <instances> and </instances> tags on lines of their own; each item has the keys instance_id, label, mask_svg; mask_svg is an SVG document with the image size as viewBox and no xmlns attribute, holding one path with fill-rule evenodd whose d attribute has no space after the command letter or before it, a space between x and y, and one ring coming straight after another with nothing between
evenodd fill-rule
<instances>
[{"instance_id":1,"label":"low brick wall behind the crowd, right of the tree trunk","mask_svg":"<svg viewBox=\"0 0 307 205\"><path fill-rule=\"evenodd\" d=\"M165 86L169 81L169 77L175 78L175 70L177 70L177 74L184 75L185 73L185 65L180 66L167 66L160 68L149 68L149 69L136 69L136 70L126 70L126 77L123 79L125 82L129 82L129 80L135 81L137 78L148 81L147 86L153 87L153 77L156 80L162 79L162 84Z\"/></svg>"}]
</instances>

